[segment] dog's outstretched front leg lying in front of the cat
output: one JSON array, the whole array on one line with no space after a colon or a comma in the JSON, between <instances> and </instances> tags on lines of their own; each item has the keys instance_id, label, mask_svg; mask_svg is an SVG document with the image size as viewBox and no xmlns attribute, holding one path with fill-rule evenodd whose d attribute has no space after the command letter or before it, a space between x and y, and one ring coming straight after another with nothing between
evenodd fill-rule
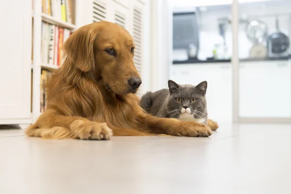
<instances>
[{"instance_id":1,"label":"dog's outstretched front leg lying in front of the cat","mask_svg":"<svg viewBox=\"0 0 291 194\"><path fill-rule=\"evenodd\" d=\"M212 134L207 125L192 121L179 121L174 118L159 118L144 114L146 126L154 133L165 133L175 136L208 137Z\"/></svg>"}]
</instances>

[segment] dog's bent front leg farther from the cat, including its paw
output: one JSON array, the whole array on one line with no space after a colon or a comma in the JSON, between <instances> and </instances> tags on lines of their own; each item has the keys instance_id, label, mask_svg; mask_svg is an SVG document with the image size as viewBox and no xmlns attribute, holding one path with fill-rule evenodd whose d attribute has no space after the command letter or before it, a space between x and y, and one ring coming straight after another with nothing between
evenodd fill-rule
<instances>
[{"instance_id":1,"label":"dog's bent front leg farther from the cat, including its paw","mask_svg":"<svg viewBox=\"0 0 291 194\"><path fill-rule=\"evenodd\" d=\"M28 127L26 134L48 139L108 140L112 136L112 129L106 123L93 122L78 116L65 116L47 109L39 116L36 123Z\"/></svg>"}]
</instances>

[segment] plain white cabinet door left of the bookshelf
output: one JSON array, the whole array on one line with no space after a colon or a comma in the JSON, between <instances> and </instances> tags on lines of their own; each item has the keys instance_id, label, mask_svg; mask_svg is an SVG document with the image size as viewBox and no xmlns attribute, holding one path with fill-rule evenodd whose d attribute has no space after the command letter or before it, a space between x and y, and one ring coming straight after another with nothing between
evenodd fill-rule
<instances>
[{"instance_id":1,"label":"plain white cabinet door left of the bookshelf","mask_svg":"<svg viewBox=\"0 0 291 194\"><path fill-rule=\"evenodd\" d=\"M32 1L2 1L0 18L0 119L30 118Z\"/></svg>"}]
</instances>

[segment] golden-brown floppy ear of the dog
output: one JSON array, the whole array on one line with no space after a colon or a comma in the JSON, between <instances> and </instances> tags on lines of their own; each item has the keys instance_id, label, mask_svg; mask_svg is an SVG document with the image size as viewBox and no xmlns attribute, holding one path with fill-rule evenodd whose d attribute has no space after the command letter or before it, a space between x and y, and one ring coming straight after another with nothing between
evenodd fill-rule
<instances>
[{"instance_id":1,"label":"golden-brown floppy ear of the dog","mask_svg":"<svg viewBox=\"0 0 291 194\"><path fill-rule=\"evenodd\" d=\"M81 71L94 70L94 42L96 35L97 31L95 29L93 30L87 26L81 27L69 36L62 48L65 51L65 58Z\"/></svg>"}]
</instances>

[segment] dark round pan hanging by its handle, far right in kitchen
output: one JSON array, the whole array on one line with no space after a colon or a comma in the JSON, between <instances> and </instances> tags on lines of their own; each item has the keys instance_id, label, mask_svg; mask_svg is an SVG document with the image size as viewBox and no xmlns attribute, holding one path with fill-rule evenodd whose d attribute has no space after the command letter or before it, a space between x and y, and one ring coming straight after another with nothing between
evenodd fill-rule
<instances>
[{"instance_id":1,"label":"dark round pan hanging by its handle, far right in kitchen","mask_svg":"<svg viewBox=\"0 0 291 194\"><path fill-rule=\"evenodd\" d=\"M288 56L289 46L289 37L279 31L279 21L276 17L276 32L272 33L268 38L268 54L270 57Z\"/></svg>"}]
</instances>

